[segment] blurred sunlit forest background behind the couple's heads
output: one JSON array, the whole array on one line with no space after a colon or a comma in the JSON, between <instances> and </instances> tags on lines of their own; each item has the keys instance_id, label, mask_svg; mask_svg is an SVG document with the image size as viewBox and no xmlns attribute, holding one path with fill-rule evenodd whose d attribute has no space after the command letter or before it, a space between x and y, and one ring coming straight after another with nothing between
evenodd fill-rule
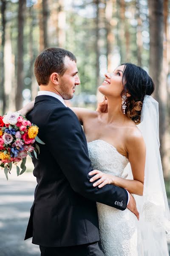
<instances>
[{"instance_id":1,"label":"blurred sunlit forest background behind the couple's heads","mask_svg":"<svg viewBox=\"0 0 170 256\"><path fill-rule=\"evenodd\" d=\"M14 110L17 103L18 10L23 0L1 0L0 14L0 111ZM44 3L44 5L42 4ZM45 5L45 3L47 3ZM150 68L149 0L26 0L23 17L23 84L20 105L37 95L34 60L45 47L63 47L77 57L81 86L70 104L95 109L100 99L97 92L104 74L120 63L132 62ZM169 49L167 61L167 99L170 96L170 2L167 4L167 34L164 47ZM6 8L3 10L3 5ZM159 12L158 12L159 13ZM3 20L4 17L4 20ZM5 21L5 27L4 23ZM45 23L47 26L45 26ZM47 34L47 38L44 35ZM3 45L3 35L5 44ZM47 40L45 40L47 39ZM163 53L162 53L163 54ZM3 58L4 56L4 58ZM155 78L156 79L156 78ZM161 86L161 84L160 84ZM5 102L5 104L4 104ZM170 103L164 113L170 141ZM165 128L164 128L165 129ZM170 155L168 156L170 163ZM166 173L169 174L169 169ZM166 175L167 176L167 175Z\"/></svg>"}]
</instances>

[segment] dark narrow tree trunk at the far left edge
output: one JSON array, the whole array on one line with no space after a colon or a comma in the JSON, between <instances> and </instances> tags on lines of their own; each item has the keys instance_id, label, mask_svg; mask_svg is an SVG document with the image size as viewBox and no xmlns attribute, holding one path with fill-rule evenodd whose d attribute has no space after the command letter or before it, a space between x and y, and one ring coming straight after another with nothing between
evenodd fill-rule
<instances>
[{"instance_id":1,"label":"dark narrow tree trunk at the far left edge","mask_svg":"<svg viewBox=\"0 0 170 256\"><path fill-rule=\"evenodd\" d=\"M4 77L4 47L5 47L5 35L6 35L6 0L1 0L1 23L2 23L2 53L1 53L1 93L3 108L2 112L5 113L6 110L6 96L5 96L5 77Z\"/></svg>"}]
</instances>

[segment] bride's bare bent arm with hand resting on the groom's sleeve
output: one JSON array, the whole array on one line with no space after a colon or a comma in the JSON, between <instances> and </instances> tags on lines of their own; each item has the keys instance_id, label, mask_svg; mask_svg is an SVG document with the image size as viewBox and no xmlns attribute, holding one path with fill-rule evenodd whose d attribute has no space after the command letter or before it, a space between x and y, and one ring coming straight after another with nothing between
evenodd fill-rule
<instances>
[{"instance_id":1,"label":"bride's bare bent arm with hand resting on the groom's sleeve","mask_svg":"<svg viewBox=\"0 0 170 256\"><path fill-rule=\"evenodd\" d=\"M133 180L119 178L113 175L104 174L100 171L92 171L89 175L95 175L91 178L91 182L97 180L93 186L105 186L106 184L113 184L126 189L131 194L143 195L144 184L144 166L146 149L145 143L140 131L135 131L127 138L127 152L132 169Z\"/></svg>"}]
</instances>

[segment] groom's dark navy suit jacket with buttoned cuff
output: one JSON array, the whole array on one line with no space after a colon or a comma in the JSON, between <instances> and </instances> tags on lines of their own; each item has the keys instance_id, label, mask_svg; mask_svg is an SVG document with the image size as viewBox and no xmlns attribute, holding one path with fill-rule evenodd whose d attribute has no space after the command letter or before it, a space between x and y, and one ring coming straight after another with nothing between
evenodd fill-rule
<instances>
[{"instance_id":1,"label":"groom's dark navy suit jacket with buttoned cuff","mask_svg":"<svg viewBox=\"0 0 170 256\"><path fill-rule=\"evenodd\" d=\"M124 210L127 192L113 185L94 188L89 182L85 134L74 112L58 99L37 96L27 118L40 128L45 145L39 144L38 160L33 157L37 187L25 239L33 236L34 244L47 247L99 241L96 201Z\"/></svg>"}]
</instances>

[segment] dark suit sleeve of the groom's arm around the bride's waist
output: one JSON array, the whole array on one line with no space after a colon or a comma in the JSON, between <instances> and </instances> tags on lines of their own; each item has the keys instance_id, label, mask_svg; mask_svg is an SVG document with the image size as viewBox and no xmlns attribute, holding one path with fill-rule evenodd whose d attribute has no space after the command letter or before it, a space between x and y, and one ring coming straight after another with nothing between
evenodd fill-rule
<instances>
[{"instance_id":1,"label":"dark suit sleeve of the groom's arm around the bride's waist","mask_svg":"<svg viewBox=\"0 0 170 256\"><path fill-rule=\"evenodd\" d=\"M99 189L89 181L91 161L77 116L67 108L54 110L46 127L46 144L72 189L92 201L125 210L128 200L125 189L113 185Z\"/></svg>"}]
</instances>

